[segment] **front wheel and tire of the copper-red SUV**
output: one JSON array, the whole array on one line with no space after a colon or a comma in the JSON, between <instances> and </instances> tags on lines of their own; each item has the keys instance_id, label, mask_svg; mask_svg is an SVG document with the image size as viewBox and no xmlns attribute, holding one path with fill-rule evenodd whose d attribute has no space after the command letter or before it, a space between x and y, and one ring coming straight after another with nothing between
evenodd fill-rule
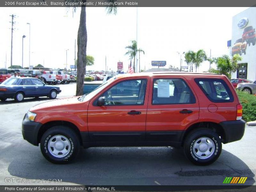
<instances>
[{"instance_id":1,"label":"front wheel and tire of the copper-red SUV","mask_svg":"<svg viewBox=\"0 0 256 192\"><path fill-rule=\"evenodd\" d=\"M51 145L50 142L54 145ZM56 142L58 143L56 144ZM76 133L70 128L54 126L43 134L40 148L48 161L55 164L67 164L77 156L80 142Z\"/></svg>"}]
</instances>

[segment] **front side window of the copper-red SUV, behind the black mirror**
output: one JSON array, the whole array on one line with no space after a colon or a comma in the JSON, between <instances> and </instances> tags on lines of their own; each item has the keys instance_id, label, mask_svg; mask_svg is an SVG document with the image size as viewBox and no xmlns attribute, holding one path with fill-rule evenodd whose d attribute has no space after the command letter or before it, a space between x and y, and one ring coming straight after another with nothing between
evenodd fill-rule
<instances>
[{"instance_id":1,"label":"front side window of the copper-red SUV, behind the black mirror","mask_svg":"<svg viewBox=\"0 0 256 192\"><path fill-rule=\"evenodd\" d=\"M104 92L104 105L143 105L147 79L122 81Z\"/></svg>"}]
</instances>

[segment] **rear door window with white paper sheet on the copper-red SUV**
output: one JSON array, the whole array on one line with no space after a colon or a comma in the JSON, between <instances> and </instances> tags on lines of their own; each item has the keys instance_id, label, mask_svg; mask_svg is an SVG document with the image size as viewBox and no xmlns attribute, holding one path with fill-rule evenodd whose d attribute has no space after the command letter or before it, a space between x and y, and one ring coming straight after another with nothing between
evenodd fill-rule
<instances>
[{"instance_id":1,"label":"rear door window with white paper sheet on the copper-red SUV","mask_svg":"<svg viewBox=\"0 0 256 192\"><path fill-rule=\"evenodd\" d=\"M154 79L152 104L192 104L196 99L182 79Z\"/></svg>"}]
</instances>

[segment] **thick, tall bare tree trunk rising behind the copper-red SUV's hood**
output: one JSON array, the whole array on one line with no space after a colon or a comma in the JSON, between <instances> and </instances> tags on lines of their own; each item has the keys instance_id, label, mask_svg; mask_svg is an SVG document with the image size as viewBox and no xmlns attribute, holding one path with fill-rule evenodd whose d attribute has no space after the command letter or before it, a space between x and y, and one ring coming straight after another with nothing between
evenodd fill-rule
<instances>
[{"instance_id":1,"label":"thick, tall bare tree trunk rising behind the copper-red SUV's hood","mask_svg":"<svg viewBox=\"0 0 256 192\"><path fill-rule=\"evenodd\" d=\"M86 2L86 0L83 0ZM87 46L87 31L86 31L86 10L85 6L81 7L80 23L77 34L77 81L76 81L76 96L83 95L84 90L84 73L86 64L86 46Z\"/></svg>"}]
</instances>

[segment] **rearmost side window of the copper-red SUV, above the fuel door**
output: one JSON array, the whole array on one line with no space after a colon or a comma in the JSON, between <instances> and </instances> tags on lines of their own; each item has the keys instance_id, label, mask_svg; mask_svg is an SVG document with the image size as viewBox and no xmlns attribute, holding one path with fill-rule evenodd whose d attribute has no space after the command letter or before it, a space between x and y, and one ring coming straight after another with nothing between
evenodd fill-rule
<instances>
[{"instance_id":1,"label":"rearmost side window of the copper-red SUV, above the fuel door","mask_svg":"<svg viewBox=\"0 0 256 192\"><path fill-rule=\"evenodd\" d=\"M233 102L234 97L222 79L195 79L206 97L214 103Z\"/></svg>"}]
</instances>

